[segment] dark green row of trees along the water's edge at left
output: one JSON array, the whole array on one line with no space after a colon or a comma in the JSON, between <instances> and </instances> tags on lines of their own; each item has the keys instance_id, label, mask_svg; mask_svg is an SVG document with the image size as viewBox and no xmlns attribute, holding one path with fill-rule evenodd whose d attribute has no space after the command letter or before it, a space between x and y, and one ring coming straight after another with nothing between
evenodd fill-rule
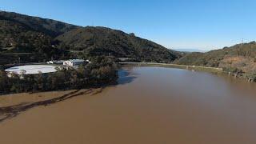
<instances>
[{"instance_id":1,"label":"dark green row of trees along the water's edge at left","mask_svg":"<svg viewBox=\"0 0 256 144\"><path fill-rule=\"evenodd\" d=\"M78 69L58 69L51 74L11 74L0 70L0 94L72 90L102 86L116 82L117 66L109 57L92 58L91 63Z\"/></svg>"}]
</instances>

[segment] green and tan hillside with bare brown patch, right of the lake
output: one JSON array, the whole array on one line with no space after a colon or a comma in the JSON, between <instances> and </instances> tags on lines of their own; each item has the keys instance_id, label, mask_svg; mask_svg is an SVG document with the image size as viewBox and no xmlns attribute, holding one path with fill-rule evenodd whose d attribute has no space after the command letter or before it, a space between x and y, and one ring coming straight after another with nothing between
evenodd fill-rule
<instances>
[{"instance_id":1,"label":"green and tan hillside with bare brown patch, right of the lake","mask_svg":"<svg viewBox=\"0 0 256 144\"><path fill-rule=\"evenodd\" d=\"M254 78L256 77L256 42L238 44L207 53L187 54L176 60L175 63L221 67L226 72L237 76Z\"/></svg>"}]
</instances>

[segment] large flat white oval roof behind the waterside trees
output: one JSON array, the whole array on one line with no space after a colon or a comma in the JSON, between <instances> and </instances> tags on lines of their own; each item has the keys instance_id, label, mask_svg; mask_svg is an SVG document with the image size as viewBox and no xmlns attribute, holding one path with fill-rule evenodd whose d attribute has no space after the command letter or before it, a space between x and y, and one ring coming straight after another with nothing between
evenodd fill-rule
<instances>
[{"instance_id":1,"label":"large flat white oval roof behind the waterside trees","mask_svg":"<svg viewBox=\"0 0 256 144\"><path fill-rule=\"evenodd\" d=\"M56 66L50 65L26 65L26 66L14 66L6 69L6 72L15 73L15 74L22 74L25 70L25 74L42 74L46 73L54 73L56 72Z\"/></svg>"}]
</instances>

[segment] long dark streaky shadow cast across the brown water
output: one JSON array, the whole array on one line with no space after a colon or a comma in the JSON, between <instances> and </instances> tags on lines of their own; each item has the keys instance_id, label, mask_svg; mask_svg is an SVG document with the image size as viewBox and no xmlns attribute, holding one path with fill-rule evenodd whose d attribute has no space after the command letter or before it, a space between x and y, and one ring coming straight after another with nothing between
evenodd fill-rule
<instances>
[{"instance_id":1,"label":"long dark streaky shadow cast across the brown water","mask_svg":"<svg viewBox=\"0 0 256 144\"><path fill-rule=\"evenodd\" d=\"M100 92L101 91L102 90L100 90ZM18 114L21 114L26 110L30 110L36 106L49 106L56 102L62 102L62 101L65 101L66 99L78 97L84 94L91 94L92 92L93 90L85 90L85 91L75 90L68 94L64 94L58 98L53 98L53 99L49 99L41 102L23 102L14 106L0 107L0 122L4 122L7 119L14 118L18 116ZM99 93L99 92L96 92L96 93Z\"/></svg>"}]
</instances>

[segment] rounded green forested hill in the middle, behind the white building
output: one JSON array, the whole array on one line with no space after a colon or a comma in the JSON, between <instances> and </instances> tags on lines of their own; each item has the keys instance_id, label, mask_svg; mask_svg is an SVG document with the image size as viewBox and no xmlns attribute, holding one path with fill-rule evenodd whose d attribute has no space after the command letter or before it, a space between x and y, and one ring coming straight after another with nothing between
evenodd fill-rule
<instances>
[{"instance_id":1,"label":"rounded green forested hill in the middle, behind the white building","mask_svg":"<svg viewBox=\"0 0 256 144\"><path fill-rule=\"evenodd\" d=\"M86 26L58 36L71 50L85 50L90 55L113 55L146 62L172 62L179 55L154 42L106 27Z\"/></svg>"}]
</instances>

